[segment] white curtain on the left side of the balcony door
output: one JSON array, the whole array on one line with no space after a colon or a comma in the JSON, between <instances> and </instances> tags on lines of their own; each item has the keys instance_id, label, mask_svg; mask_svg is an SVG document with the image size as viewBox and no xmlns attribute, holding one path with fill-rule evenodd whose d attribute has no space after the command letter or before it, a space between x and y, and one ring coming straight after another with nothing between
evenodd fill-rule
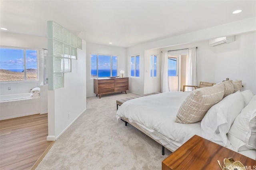
<instances>
[{"instance_id":1,"label":"white curtain on the left side of the balcony door","mask_svg":"<svg viewBox=\"0 0 256 170\"><path fill-rule=\"evenodd\" d=\"M168 82L168 51L162 53L161 63L161 92L167 91L170 91Z\"/></svg>"}]
</instances>

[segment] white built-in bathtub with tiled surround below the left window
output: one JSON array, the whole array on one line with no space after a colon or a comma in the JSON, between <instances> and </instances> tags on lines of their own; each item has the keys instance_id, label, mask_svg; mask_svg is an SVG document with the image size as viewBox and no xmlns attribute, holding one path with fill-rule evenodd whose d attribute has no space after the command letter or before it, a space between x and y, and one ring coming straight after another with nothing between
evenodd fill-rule
<instances>
[{"instance_id":1,"label":"white built-in bathtub with tiled surround below the left window","mask_svg":"<svg viewBox=\"0 0 256 170\"><path fill-rule=\"evenodd\" d=\"M0 120L40 113L40 98L30 98L30 93L0 95Z\"/></svg>"}]
</instances>

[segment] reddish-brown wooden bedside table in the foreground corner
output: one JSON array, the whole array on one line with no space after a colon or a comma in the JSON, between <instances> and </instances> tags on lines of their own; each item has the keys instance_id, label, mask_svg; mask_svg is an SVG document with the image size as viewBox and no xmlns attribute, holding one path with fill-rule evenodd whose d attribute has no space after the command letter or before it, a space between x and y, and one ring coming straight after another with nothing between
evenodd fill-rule
<instances>
[{"instance_id":1,"label":"reddish-brown wooden bedside table in the foreground corner","mask_svg":"<svg viewBox=\"0 0 256 170\"><path fill-rule=\"evenodd\" d=\"M253 169L256 160L194 135L162 162L162 170L221 170L217 160L232 157Z\"/></svg>"}]
</instances>

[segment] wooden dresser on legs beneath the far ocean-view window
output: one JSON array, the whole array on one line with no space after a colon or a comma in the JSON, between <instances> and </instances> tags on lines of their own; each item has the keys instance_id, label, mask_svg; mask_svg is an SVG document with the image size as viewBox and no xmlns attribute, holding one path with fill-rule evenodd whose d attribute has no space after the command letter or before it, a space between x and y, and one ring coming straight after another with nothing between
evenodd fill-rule
<instances>
[{"instance_id":1,"label":"wooden dresser on legs beneath the far ocean-view window","mask_svg":"<svg viewBox=\"0 0 256 170\"><path fill-rule=\"evenodd\" d=\"M94 93L96 96L128 90L128 77L125 78L98 78L94 79Z\"/></svg>"}]
</instances>

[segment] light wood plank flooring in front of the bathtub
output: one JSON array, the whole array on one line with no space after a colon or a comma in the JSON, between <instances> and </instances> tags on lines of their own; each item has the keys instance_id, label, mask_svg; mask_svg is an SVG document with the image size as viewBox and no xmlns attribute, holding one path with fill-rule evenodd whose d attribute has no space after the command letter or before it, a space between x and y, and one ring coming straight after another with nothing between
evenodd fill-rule
<instances>
[{"instance_id":1,"label":"light wood plank flooring in front of the bathtub","mask_svg":"<svg viewBox=\"0 0 256 170\"><path fill-rule=\"evenodd\" d=\"M46 141L47 116L38 114L0 121L1 170L29 170L37 166L33 165L39 163L40 156L54 143Z\"/></svg>"}]
</instances>

